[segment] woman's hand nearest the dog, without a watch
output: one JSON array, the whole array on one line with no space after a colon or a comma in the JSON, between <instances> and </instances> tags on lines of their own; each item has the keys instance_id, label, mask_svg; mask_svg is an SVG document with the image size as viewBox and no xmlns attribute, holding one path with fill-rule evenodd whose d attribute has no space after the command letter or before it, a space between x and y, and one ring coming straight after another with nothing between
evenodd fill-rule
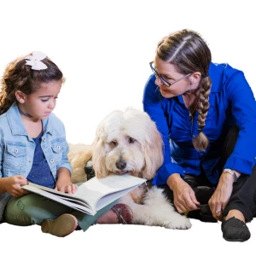
<instances>
[{"instance_id":1,"label":"woman's hand nearest the dog, without a watch","mask_svg":"<svg viewBox=\"0 0 256 256\"><path fill-rule=\"evenodd\" d=\"M196 200L194 190L183 181L179 174L172 174L168 178L167 184L173 191L173 203L177 212L183 213L198 209L196 205L200 205L200 202Z\"/></svg>"}]
</instances>

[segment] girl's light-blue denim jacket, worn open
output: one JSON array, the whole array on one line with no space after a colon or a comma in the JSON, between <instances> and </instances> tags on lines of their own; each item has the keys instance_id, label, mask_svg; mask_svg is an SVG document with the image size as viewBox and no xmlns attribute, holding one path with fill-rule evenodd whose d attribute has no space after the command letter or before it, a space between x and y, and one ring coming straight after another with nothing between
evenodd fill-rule
<instances>
[{"instance_id":1,"label":"girl's light-blue denim jacket, worn open","mask_svg":"<svg viewBox=\"0 0 256 256\"><path fill-rule=\"evenodd\" d=\"M60 167L72 172L67 159L69 148L65 127L61 120L51 113L43 120L43 131L41 147L56 181L56 173ZM35 143L26 133L17 104L14 103L6 113L0 115L0 178L14 175L27 177L32 168L34 150ZM0 222L10 197L7 192L0 195Z\"/></svg>"}]
</instances>

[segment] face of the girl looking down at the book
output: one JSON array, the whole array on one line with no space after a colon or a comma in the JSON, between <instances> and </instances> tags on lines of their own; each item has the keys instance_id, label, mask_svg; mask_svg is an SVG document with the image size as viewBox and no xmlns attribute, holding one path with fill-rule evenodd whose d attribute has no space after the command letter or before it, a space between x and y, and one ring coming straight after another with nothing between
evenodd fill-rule
<instances>
[{"instance_id":1,"label":"face of the girl looking down at the book","mask_svg":"<svg viewBox=\"0 0 256 256\"><path fill-rule=\"evenodd\" d=\"M61 85L61 80L42 83L38 90L24 96L24 103L19 104L19 108L35 119L46 119L56 106Z\"/></svg>"}]
</instances>

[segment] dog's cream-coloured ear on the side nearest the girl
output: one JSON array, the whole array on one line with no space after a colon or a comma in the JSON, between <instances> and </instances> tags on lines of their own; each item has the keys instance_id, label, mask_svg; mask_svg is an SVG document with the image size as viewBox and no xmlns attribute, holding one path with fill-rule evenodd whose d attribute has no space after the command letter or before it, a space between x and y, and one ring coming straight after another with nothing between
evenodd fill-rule
<instances>
[{"instance_id":1,"label":"dog's cream-coloured ear on the side nearest the girl","mask_svg":"<svg viewBox=\"0 0 256 256\"><path fill-rule=\"evenodd\" d=\"M105 148L104 143L98 137L93 142L92 150L92 166L95 171L96 177L107 177L108 170L105 165Z\"/></svg>"}]
</instances>

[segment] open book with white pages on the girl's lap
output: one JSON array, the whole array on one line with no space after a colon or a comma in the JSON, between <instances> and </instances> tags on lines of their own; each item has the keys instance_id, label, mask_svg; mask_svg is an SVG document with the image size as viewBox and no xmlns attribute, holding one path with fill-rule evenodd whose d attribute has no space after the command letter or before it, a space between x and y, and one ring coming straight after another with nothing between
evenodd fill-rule
<instances>
[{"instance_id":1,"label":"open book with white pages on the girl's lap","mask_svg":"<svg viewBox=\"0 0 256 256\"><path fill-rule=\"evenodd\" d=\"M89 181L81 184L74 194L67 194L34 183L24 185L22 189L48 197L80 212L95 215L97 211L146 181L144 178L134 177L129 174L110 174L108 177L100 179L96 177L91 178Z\"/></svg>"}]
</instances>

